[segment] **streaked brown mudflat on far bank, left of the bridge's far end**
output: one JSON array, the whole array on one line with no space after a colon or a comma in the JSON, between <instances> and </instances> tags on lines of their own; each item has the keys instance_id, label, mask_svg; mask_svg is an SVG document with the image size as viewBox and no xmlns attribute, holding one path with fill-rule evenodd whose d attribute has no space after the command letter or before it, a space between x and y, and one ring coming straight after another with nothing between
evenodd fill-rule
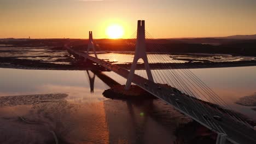
<instances>
[{"instance_id":1,"label":"streaked brown mudflat on far bank, left of the bridge's far end","mask_svg":"<svg viewBox=\"0 0 256 144\"><path fill-rule=\"evenodd\" d=\"M0 67L43 70L84 70L97 67L77 61L66 50L51 47L0 47Z\"/></svg>"}]
</instances>

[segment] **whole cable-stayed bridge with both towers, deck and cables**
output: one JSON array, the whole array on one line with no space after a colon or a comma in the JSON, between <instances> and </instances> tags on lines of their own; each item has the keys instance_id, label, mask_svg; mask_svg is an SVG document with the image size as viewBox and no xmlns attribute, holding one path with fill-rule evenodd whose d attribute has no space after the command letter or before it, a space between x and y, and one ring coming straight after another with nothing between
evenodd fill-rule
<instances>
[{"instance_id":1,"label":"whole cable-stayed bridge with both towers, deck and cables","mask_svg":"<svg viewBox=\"0 0 256 144\"><path fill-rule=\"evenodd\" d=\"M135 83L135 85L155 97L172 105L184 115L211 129L218 134L216 143L226 143L228 141L231 143L256 143L256 131L253 130L253 125L249 124L247 119L239 113L234 112L222 98L189 69L168 69L167 63L163 61L160 64L163 70L151 70L149 63L170 59L170 57L154 54L149 57L146 53L146 47L151 47L152 50L155 50L155 53L166 48L158 44L146 46L148 41L146 36L152 39L152 36L145 31L145 22L138 21L137 32L131 38L136 38L136 43L134 43L134 40L126 41L129 46L135 46L135 54L130 70L98 58L92 32L89 32L87 52L75 51L68 44L65 46L69 53L83 57L84 61L89 59L127 79L125 89L129 89L131 83ZM89 54L90 50L94 51L94 56ZM117 57L117 55L112 57ZM146 73L141 70L135 71L137 62L142 61ZM182 68L182 63L176 62L176 64ZM214 104L206 101L211 101Z\"/></svg>"}]
</instances>

